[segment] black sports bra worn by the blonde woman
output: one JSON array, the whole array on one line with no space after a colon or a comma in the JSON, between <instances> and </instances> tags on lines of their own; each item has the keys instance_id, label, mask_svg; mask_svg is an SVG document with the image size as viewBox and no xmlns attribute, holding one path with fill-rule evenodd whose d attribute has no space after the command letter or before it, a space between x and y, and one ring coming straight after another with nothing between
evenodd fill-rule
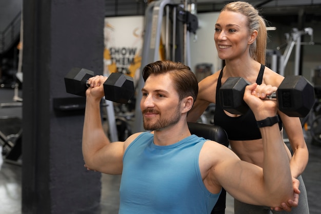
<instances>
[{"instance_id":1,"label":"black sports bra worn by the blonde woman","mask_svg":"<svg viewBox=\"0 0 321 214\"><path fill-rule=\"evenodd\" d=\"M259 70L256 83L258 85L262 84L263 73L265 66L261 65ZM219 88L222 85L221 79L223 75L223 69L220 71L217 86L216 86L216 104L215 104L215 112L214 112L214 124L222 127L227 132L229 140L234 141L247 141L247 140L256 140L262 139L261 132L256 125L255 116L253 111L249 109L246 114L232 117L228 116L222 106L219 103ZM282 121L279 117L279 128L282 129Z\"/></svg>"}]
</instances>

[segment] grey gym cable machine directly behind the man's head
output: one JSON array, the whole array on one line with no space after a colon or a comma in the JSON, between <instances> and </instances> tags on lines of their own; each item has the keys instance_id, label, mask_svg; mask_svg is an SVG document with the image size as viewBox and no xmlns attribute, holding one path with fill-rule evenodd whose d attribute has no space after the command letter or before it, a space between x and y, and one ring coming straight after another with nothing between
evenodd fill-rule
<instances>
[{"instance_id":1,"label":"grey gym cable machine directly behind the man's head","mask_svg":"<svg viewBox=\"0 0 321 214\"><path fill-rule=\"evenodd\" d=\"M195 4L188 4L187 0L158 0L149 3L145 10L144 43L142 49L141 68L158 60L182 62L190 66L189 33L196 39L198 28L197 17L187 9L195 8ZM194 10L194 9L193 9ZM163 47L164 37L164 47ZM135 104L135 125L133 132L143 131L143 118L140 107L144 86L140 76L137 87Z\"/></svg>"}]
</instances>

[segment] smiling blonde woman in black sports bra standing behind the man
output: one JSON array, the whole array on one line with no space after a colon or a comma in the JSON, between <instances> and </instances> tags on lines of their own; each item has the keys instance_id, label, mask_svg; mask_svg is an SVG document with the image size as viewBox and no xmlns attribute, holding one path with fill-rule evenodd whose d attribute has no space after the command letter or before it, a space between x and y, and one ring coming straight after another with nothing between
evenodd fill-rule
<instances>
[{"instance_id":1,"label":"smiling blonde woman in black sports bra standing behind the man","mask_svg":"<svg viewBox=\"0 0 321 214\"><path fill-rule=\"evenodd\" d=\"M227 131L231 149L240 159L262 167L262 137L253 112L249 110L244 115L233 115L224 111L219 105L218 90L231 76L243 77L250 83L272 86L279 86L283 81L282 75L264 66L267 43L265 20L252 5L246 2L232 2L226 5L218 16L214 41L218 57L225 60L225 66L221 71L199 82L197 100L189 112L188 121L195 122L210 103L215 103L214 123ZM300 176L308 163L309 156L302 126L299 118L291 118L280 111L278 115L282 121L279 124L280 134L283 134L283 123L293 150L291 155L286 144L284 145L290 159L293 182L297 180L300 182L298 206L292 208L290 213L309 213L306 190ZM274 211L274 208L271 209ZM270 208L234 200L234 210L235 214L257 214L269 213Z\"/></svg>"}]
</instances>

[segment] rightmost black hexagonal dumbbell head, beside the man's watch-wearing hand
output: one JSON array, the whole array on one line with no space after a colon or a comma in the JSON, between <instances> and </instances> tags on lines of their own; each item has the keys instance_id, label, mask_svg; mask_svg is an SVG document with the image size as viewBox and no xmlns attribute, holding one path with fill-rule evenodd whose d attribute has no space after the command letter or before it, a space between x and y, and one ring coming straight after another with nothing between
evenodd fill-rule
<instances>
[{"instance_id":1,"label":"rightmost black hexagonal dumbbell head, beside the man's watch-wearing hand","mask_svg":"<svg viewBox=\"0 0 321 214\"><path fill-rule=\"evenodd\" d=\"M287 76L277 91L278 109L288 116L304 118L314 102L314 88L303 76Z\"/></svg>"}]
</instances>

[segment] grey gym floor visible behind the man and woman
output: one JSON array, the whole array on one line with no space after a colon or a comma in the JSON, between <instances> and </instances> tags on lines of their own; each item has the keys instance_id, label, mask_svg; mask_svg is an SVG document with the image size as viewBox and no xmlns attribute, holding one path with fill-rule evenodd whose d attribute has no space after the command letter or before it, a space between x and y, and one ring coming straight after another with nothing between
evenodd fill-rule
<instances>
[{"instance_id":1,"label":"grey gym floor visible behind the man and woman","mask_svg":"<svg viewBox=\"0 0 321 214\"><path fill-rule=\"evenodd\" d=\"M0 118L4 116L17 116L22 118L22 107L12 101L13 89L0 88ZM22 96L22 91L19 91ZM13 103L11 107L3 105ZM303 173L303 179L308 193L311 214L321 214L321 146L311 144L309 133L305 133L309 148L309 163ZM0 159L1 163L1 159ZM1 165L1 164L0 164ZM97 172L98 173L98 172ZM102 213L118 213L118 189L121 176L102 176ZM280 178L282 179L282 178ZM21 214L21 165L4 162L0 168L0 213ZM227 195L226 214L233 214L233 199ZM304 213L302 213L304 214Z\"/></svg>"}]
</instances>

